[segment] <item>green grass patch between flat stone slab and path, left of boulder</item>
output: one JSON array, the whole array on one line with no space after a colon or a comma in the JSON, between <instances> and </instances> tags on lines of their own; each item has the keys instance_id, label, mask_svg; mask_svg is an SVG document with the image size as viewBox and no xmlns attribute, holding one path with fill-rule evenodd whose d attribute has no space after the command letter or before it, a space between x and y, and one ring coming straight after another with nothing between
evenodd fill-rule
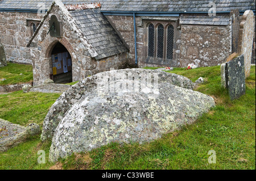
<instances>
[{"instance_id":1,"label":"green grass patch between flat stone slab and path, left of boulder","mask_svg":"<svg viewBox=\"0 0 256 181\"><path fill-rule=\"evenodd\" d=\"M0 118L11 123L43 125L44 117L60 94L16 91L0 95Z\"/></svg>"}]
</instances>

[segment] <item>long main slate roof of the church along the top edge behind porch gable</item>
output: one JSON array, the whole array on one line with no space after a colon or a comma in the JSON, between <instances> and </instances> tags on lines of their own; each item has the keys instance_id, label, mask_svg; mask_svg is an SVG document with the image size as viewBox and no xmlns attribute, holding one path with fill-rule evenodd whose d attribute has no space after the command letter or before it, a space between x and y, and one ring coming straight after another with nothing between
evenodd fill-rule
<instances>
[{"instance_id":1,"label":"long main slate roof of the church along the top edge behind porch gable","mask_svg":"<svg viewBox=\"0 0 256 181\"><path fill-rule=\"evenodd\" d=\"M39 2L51 6L52 0L2 0L0 9L39 9ZM208 12L212 0L63 0L65 5L100 2L101 11ZM216 0L216 11L255 10L255 0Z\"/></svg>"}]
</instances>

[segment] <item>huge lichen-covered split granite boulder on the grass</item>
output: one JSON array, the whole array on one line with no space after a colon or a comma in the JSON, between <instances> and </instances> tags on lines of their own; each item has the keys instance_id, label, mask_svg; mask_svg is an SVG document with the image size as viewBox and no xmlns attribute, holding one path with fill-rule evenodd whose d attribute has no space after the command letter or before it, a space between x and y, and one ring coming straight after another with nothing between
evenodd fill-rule
<instances>
[{"instance_id":1,"label":"huge lichen-covered split granite boulder on the grass","mask_svg":"<svg viewBox=\"0 0 256 181\"><path fill-rule=\"evenodd\" d=\"M131 73L139 76L127 80ZM147 78L152 74L157 86L145 86L144 74ZM137 92L110 91L109 75L115 75L114 85L141 83L142 87ZM114 141L155 140L193 123L215 104L213 98L192 88L192 81L181 75L145 69L114 70L80 81L60 96L44 120L42 140L53 136L49 160Z\"/></svg>"}]
</instances>

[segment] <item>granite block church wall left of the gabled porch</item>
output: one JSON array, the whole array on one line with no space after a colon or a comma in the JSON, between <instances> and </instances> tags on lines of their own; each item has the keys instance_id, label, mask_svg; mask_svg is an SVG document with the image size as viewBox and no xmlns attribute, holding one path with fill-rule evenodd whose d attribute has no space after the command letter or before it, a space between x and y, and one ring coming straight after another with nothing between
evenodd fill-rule
<instances>
[{"instance_id":1,"label":"granite block church wall left of the gabled porch","mask_svg":"<svg viewBox=\"0 0 256 181\"><path fill-rule=\"evenodd\" d=\"M30 49L26 48L32 36L27 19L41 20L42 16L26 12L0 12L0 43L5 47L7 61L32 64Z\"/></svg>"}]
</instances>

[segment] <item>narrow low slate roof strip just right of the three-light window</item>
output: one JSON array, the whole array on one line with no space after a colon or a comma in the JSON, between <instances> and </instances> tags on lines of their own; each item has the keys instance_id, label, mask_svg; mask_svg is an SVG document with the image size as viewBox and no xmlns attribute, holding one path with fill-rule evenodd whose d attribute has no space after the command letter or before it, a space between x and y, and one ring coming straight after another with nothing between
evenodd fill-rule
<instances>
[{"instance_id":1,"label":"narrow low slate roof strip just right of the three-light window","mask_svg":"<svg viewBox=\"0 0 256 181\"><path fill-rule=\"evenodd\" d=\"M227 26L229 24L229 16L216 15L207 16L204 15L181 15L180 24L200 24L200 25L220 25Z\"/></svg>"}]
</instances>

